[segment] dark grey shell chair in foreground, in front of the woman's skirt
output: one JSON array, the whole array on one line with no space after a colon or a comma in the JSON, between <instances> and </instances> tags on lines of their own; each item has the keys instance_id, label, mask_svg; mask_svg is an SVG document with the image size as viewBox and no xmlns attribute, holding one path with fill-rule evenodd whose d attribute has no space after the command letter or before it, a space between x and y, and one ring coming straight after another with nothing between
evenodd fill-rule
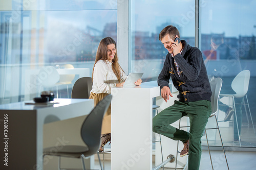
<instances>
[{"instance_id":1,"label":"dark grey shell chair in foreground, in front of the woman's skirt","mask_svg":"<svg viewBox=\"0 0 256 170\"><path fill-rule=\"evenodd\" d=\"M44 148L44 156L58 156L59 157L59 169L60 167L60 159L61 157L71 157L71 158L80 158L82 161L82 167L86 170L84 165L84 158L89 158L92 155L96 154L100 147L100 134L101 134L101 125L102 119L109 108L111 103L112 95L109 94L105 96L91 111L91 113L84 119L81 130L80 137L83 140L83 145L63 145L59 147L58 150L52 150L54 147ZM72 127L70 127L72 128ZM102 169L99 154L99 164L100 169ZM65 168L66 169L66 168Z\"/></svg>"}]
</instances>

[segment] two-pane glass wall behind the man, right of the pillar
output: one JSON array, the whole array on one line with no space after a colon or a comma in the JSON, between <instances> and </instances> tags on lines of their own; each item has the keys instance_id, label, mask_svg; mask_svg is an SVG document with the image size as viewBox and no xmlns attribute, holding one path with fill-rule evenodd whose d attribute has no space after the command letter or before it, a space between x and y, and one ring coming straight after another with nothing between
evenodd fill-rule
<instances>
[{"instance_id":1,"label":"two-pane glass wall behind the man, right of the pillar","mask_svg":"<svg viewBox=\"0 0 256 170\"><path fill-rule=\"evenodd\" d=\"M234 107L230 105L232 98L228 100L223 97L220 100L217 116L224 145L256 147L253 126L256 124L256 116L253 113L253 94L256 92L256 23L253 17L256 13L252 8L256 6L255 1L248 1L246 4L237 0L199 2L199 28L195 28L195 1L132 1L133 42L129 59L132 63L129 65L130 71L144 72L144 81L157 80L167 54L167 50L158 40L160 31L165 26L174 25L180 31L181 39L195 46L195 29L199 29L199 47L209 80L217 77L223 79L222 94L235 94L231 87L234 77L242 70L250 71L247 92L250 110L244 105L247 103L246 98L235 99L238 119L236 121ZM216 124L209 122L207 127L212 125ZM208 133L213 136L210 138L210 145L219 146L220 138L216 130L209 130ZM202 139L202 144L207 145L205 135Z\"/></svg>"}]
</instances>

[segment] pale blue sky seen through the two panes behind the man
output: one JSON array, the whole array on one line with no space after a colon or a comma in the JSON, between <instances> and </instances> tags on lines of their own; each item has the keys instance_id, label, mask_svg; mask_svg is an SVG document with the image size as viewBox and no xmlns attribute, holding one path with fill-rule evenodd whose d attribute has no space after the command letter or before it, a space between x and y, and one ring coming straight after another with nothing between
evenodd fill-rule
<instances>
[{"instance_id":1,"label":"pale blue sky seen through the two panes behind the man","mask_svg":"<svg viewBox=\"0 0 256 170\"><path fill-rule=\"evenodd\" d=\"M255 8L255 0L202 0L201 33L256 35ZM136 30L155 33L156 26L169 22L181 26L183 36L195 35L195 0L136 0L133 9Z\"/></svg>"}]
</instances>

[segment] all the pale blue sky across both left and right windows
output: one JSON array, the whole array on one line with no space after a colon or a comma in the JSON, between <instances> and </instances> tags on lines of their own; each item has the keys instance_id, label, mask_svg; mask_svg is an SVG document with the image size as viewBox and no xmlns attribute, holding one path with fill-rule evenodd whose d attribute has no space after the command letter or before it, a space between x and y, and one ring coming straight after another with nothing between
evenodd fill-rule
<instances>
[{"instance_id":1,"label":"all the pale blue sky across both left and right windows","mask_svg":"<svg viewBox=\"0 0 256 170\"><path fill-rule=\"evenodd\" d=\"M28 0L32 1L32 0ZM126 0L120 0L120 3ZM32 1L34 2L34 1ZM84 29L103 31L116 21L117 0L39 0L39 9L49 20L59 20ZM256 35L256 0L201 0L201 33L225 33L226 37ZM33 7L31 5L31 7ZM32 9L33 10L33 9ZM163 23L180 28L185 37L195 35L195 0L133 0L132 30L159 33Z\"/></svg>"}]
</instances>

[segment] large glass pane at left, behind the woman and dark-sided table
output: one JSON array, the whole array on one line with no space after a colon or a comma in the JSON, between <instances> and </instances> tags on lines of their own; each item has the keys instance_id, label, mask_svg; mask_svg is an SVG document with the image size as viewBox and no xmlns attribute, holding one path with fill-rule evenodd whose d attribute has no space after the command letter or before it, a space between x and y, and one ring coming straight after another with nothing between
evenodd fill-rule
<instances>
[{"instance_id":1,"label":"large glass pane at left, behind the woman and dark-sided table","mask_svg":"<svg viewBox=\"0 0 256 170\"><path fill-rule=\"evenodd\" d=\"M0 26L0 104L32 100L43 89L56 94L59 82L43 86L55 68L60 80L68 81L61 71L72 75L58 85L67 98L79 76L92 76L99 41L116 40L117 1L2 0Z\"/></svg>"}]
</instances>

